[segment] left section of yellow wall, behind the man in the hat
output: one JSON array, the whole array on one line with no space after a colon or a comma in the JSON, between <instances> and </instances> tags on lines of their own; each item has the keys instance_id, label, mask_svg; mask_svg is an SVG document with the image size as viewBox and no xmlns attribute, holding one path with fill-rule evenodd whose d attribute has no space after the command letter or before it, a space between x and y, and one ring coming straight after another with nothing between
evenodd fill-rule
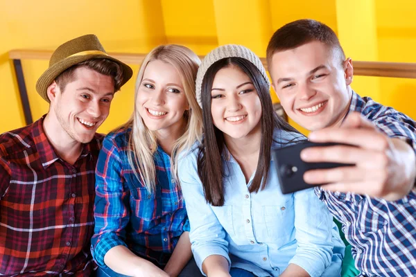
<instances>
[{"instance_id":1,"label":"left section of yellow wall, behind the man in the hat","mask_svg":"<svg viewBox=\"0 0 416 277\"><path fill-rule=\"evenodd\" d=\"M71 3L71 4L69 4ZM8 60L14 48L55 49L73 37L95 33L106 51L146 53L166 42L159 1L8 1L0 0L0 133L24 125L17 84ZM150 12L151 11L151 12ZM23 61L33 120L48 110L35 91L37 78L47 61ZM133 66L135 74L138 66ZM107 132L127 120L132 111L134 80L116 93L109 118L101 127Z\"/></svg>"}]
</instances>

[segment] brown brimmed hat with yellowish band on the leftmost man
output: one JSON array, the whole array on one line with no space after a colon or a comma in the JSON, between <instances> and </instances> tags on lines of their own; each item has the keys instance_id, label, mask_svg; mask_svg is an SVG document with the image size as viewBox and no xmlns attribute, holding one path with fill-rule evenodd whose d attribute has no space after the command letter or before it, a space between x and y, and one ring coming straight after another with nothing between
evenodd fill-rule
<instances>
[{"instance_id":1,"label":"brown brimmed hat with yellowish band on the leftmost man","mask_svg":"<svg viewBox=\"0 0 416 277\"><path fill-rule=\"evenodd\" d=\"M96 35L83 35L76 39L71 39L69 42L65 42L56 48L49 61L49 69L46 69L39 80L37 80L37 93L44 100L50 102L46 90L60 73L80 62L97 58L112 60L120 64L123 69L123 82L121 82L121 85L125 84L132 77L133 71L130 66L107 55Z\"/></svg>"}]
</instances>

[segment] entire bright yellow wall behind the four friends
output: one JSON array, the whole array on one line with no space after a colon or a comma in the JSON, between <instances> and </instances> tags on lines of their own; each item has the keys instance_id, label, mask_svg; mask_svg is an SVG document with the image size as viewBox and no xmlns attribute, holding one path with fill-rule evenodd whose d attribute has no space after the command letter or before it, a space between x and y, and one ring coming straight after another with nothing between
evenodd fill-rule
<instances>
[{"instance_id":1,"label":"entire bright yellow wall behind the four friends","mask_svg":"<svg viewBox=\"0 0 416 277\"><path fill-rule=\"evenodd\" d=\"M365 23L369 12L370 27ZM240 43L264 56L268 38L277 28L295 19L313 18L336 30L353 60L416 62L415 14L413 0L395 5L388 0L0 0L0 133L24 125L8 60L8 51L15 48L53 50L73 37L95 33L109 52L146 53L159 44L175 43L205 55L218 45ZM48 62L25 60L23 66L36 120L48 109L35 91ZM132 67L136 74L138 65ZM116 93L100 132L108 132L130 116L134 79ZM358 77L353 88L416 118L416 80ZM272 98L277 100L274 93Z\"/></svg>"}]
</instances>

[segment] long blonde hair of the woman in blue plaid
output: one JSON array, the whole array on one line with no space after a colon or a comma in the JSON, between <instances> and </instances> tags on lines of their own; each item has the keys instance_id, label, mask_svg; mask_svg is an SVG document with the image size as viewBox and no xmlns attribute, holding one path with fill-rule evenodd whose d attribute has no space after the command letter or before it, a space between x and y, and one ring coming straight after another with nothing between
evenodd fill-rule
<instances>
[{"instance_id":1,"label":"long blonde hair of the woman in blue plaid","mask_svg":"<svg viewBox=\"0 0 416 277\"><path fill-rule=\"evenodd\" d=\"M156 187L156 170L153 154L157 150L157 139L144 124L139 111L137 111L137 91L141 85L144 71L149 62L160 60L171 64L180 75L185 97L189 104L189 111L185 111L184 118L187 120L187 128L184 134L173 144L171 154L171 172L177 183L177 154L182 150L189 150L193 143L201 140L202 136L202 110L200 109L195 95L195 80L199 57L189 48L169 44L157 46L146 57L137 74L135 87L135 109L132 116L121 128L132 128L128 138L128 162L135 169L135 176L146 186L149 192Z\"/></svg>"}]
</instances>

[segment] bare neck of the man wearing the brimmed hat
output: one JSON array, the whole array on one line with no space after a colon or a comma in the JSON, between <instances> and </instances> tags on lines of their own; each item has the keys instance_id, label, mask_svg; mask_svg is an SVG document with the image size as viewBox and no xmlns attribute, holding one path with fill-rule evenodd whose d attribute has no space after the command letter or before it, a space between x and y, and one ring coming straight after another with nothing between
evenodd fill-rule
<instances>
[{"instance_id":1,"label":"bare neck of the man wearing the brimmed hat","mask_svg":"<svg viewBox=\"0 0 416 277\"><path fill-rule=\"evenodd\" d=\"M82 152L82 145L69 136L58 122L58 119L47 114L43 122L44 132L49 143L61 159L70 164L76 162Z\"/></svg>"}]
</instances>

